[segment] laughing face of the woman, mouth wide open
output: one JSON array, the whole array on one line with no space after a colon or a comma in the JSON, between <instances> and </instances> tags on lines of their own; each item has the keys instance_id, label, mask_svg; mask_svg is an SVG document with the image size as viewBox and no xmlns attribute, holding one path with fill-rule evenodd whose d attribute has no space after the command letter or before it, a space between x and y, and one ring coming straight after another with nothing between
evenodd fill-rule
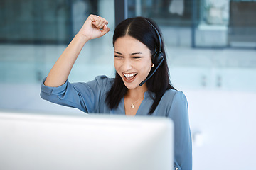
<instances>
[{"instance_id":1,"label":"laughing face of the woman, mouth wide open","mask_svg":"<svg viewBox=\"0 0 256 170\"><path fill-rule=\"evenodd\" d=\"M151 52L139 40L125 35L114 42L114 68L128 89L139 87L149 75L151 64Z\"/></svg>"}]
</instances>

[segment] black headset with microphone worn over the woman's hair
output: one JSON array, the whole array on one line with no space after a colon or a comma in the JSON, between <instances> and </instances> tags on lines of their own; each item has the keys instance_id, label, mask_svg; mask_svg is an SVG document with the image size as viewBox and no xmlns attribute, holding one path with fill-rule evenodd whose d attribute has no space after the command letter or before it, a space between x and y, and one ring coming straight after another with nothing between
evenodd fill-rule
<instances>
[{"instance_id":1,"label":"black headset with microphone worn over the woman's hair","mask_svg":"<svg viewBox=\"0 0 256 170\"><path fill-rule=\"evenodd\" d=\"M157 38L159 39L159 48L154 53L154 57L152 59L152 62L155 65L155 69L151 70L151 74L144 81L142 81L139 84L139 86L142 86L148 79L150 79L150 77L153 76L153 74L156 72L156 70L159 68L159 66L164 61L164 53L161 52L161 47L162 47L161 36L160 36L158 30L156 30L156 28L153 26L153 24L150 23L148 20L146 20L146 21L152 26L152 28L154 28L154 30L156 32Z\"/></svg>"}]
</instances>

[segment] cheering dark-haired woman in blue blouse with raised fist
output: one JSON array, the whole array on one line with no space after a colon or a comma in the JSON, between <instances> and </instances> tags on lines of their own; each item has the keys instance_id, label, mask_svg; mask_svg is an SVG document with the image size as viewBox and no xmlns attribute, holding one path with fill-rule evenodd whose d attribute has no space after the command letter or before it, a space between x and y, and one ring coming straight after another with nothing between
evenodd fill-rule
<instances>
[{"instance_id":1,"label":"cheering dark-haired woman in blue blouse with raised fist","mask_svg":"<svg viewBox=\"0 0 256 170\"><path fill-rule=\"evenodd\" d=\"M67 81L82 47L105 35L110 30L107 24L100 16L87 18L43 80L41 97L86 113L169 117L175 129L174 169L192 169L186 96L171 86L159 28L149 18L129 18L115 28L114 79L99 76L88 83Z\"/></svg>"}]
</instances>

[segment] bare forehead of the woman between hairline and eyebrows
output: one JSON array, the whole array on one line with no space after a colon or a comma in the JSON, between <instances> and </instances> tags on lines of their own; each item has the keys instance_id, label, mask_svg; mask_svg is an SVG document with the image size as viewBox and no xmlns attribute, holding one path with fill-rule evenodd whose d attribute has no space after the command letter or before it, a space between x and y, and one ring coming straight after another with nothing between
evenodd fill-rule
<instances>
[{"instance_id":1,"label":"bare forehead of the woman between hairline and eyebrows","mask_svg":"<svg viewBox=\"0 0 256 170\"><path fill-rule=\"evenodd\" d=\"M150 52L146 45L129 35L117 38L114 42L114 50L119 52Z\"/></svg>"}]
</instances>

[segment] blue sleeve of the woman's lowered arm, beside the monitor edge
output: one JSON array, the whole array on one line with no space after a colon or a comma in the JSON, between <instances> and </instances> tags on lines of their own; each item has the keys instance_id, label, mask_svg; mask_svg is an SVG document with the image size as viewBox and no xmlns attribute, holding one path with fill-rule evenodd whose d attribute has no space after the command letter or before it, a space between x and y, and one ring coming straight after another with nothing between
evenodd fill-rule
<instances>
[{"instance_id":1,"label":"blue sleeve of the woman's lowered arm, beside the monitor edge","mask_svg":"<svg viewBox=\"0 0 256 170\"><path fill-rule=\"evenodd\" d=\"M176 91L168 117L174 121L174 169L192 169L192 141L188 120L188 102L181 91Z\"/></svg>"}]
</instances>

